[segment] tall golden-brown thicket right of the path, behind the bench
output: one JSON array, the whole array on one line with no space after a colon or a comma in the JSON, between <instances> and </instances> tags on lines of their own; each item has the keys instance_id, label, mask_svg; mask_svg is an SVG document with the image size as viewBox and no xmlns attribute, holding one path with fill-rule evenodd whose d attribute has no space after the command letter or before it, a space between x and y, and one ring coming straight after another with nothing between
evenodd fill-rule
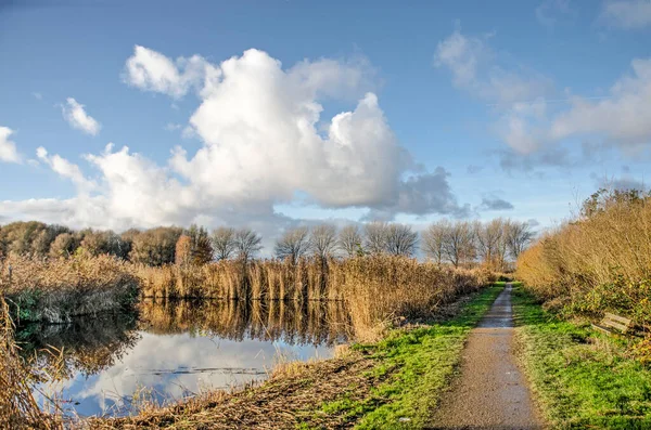
<instances>
[{"instance_id":1,"label":"tall golden-brown thicket right of the path, behind the bench","mask_svg":"<svg viewBox=\"0 0 651 430\"><path fill-rule=\"evenodd\" d=\"M541 237L516 276L550 305L598 316L614 311L651 323L651 199L621 194Z\"/></svg>"}]
</instances>

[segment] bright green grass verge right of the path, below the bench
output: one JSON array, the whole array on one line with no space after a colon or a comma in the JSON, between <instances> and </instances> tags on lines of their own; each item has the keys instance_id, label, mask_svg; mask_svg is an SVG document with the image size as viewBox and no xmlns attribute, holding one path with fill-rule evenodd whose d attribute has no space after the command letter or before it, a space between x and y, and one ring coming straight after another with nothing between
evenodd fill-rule
<instances>
[{"instance_id":1,"label":"bright green grass verge right of the path, below the bench","mask_svg":"<svg viewBox=\"0 0 651 430\"><path fill-rule=\"evenodd\" d=\"M513 291L522 359L556 429L651 429L651 369L627 359L630 340L563 322Z\"/></svg>"}]
</instances>

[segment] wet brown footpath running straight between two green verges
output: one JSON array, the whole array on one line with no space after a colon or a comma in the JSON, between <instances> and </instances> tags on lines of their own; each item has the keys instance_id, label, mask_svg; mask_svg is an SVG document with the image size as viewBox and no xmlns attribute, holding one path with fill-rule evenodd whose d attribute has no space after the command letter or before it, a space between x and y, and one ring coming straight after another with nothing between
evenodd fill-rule
<instances>
[{"instance_id":1,"label":"wet brown footpath running straight between two green verges","mask_svg":"<svg viewBox=\"0 0 651 430\"><path fill-rule=\"evenodd\" d=\"M511 285L468 339L461 376L444 395L433 429L542 429L513 355Z\"/></svg>"}]
</instances>

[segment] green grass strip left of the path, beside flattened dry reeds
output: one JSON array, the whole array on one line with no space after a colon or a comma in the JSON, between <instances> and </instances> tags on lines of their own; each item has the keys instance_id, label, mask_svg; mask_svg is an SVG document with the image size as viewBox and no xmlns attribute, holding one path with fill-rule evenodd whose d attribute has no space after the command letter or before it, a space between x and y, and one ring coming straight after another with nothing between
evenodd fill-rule
<instances>
[{"instance_id":1,"label":"green grass strip left of the path, beside flattened dry reeds","mask_svg":"<svg viewBox=\"0 0 651 430\"><path fill-rule=\"evenodd\" d=\"M429 425L438 399L459 363L469 331L488 311L503 283L487 288L451 321L411 330L395 330L375 344L356 349L378 360L376 376L384 382L362 400L352 400L350 387L337 400L321 405L315 414L336 414L356 422L358 429L420 429ZM312 428L308 422L302 428Z\"/></svg>"}]
</instances>

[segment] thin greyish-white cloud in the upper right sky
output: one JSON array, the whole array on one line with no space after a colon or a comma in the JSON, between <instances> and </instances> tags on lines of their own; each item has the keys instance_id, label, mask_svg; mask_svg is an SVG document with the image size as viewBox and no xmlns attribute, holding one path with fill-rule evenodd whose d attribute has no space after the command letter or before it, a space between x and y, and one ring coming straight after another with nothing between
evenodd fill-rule
<instances>
[{"instance_id":1,"label":"thin greyish-white cloud in the upper right sky","mask_svg":"<svg viewBox=\"0 0 651 430\"><path fill-rule=\"evenodd\" d=\"M549 79L521 66L512 71L498 63L485 39L459 30L438 43L435 54L435 65L451 71L456 87L492 102L497 118L494 130L512 155L541 155L529 157L526 165L560 164L565 152L553 146L572 138L628 154L649 148L651 58L634 60L633 73L617 80L608 96L582 97L566 90L563 99L556 100L545 96L553 92ZM520 164L513 161L511 157L508 165Z\"/></svg>"}]
</instances>

